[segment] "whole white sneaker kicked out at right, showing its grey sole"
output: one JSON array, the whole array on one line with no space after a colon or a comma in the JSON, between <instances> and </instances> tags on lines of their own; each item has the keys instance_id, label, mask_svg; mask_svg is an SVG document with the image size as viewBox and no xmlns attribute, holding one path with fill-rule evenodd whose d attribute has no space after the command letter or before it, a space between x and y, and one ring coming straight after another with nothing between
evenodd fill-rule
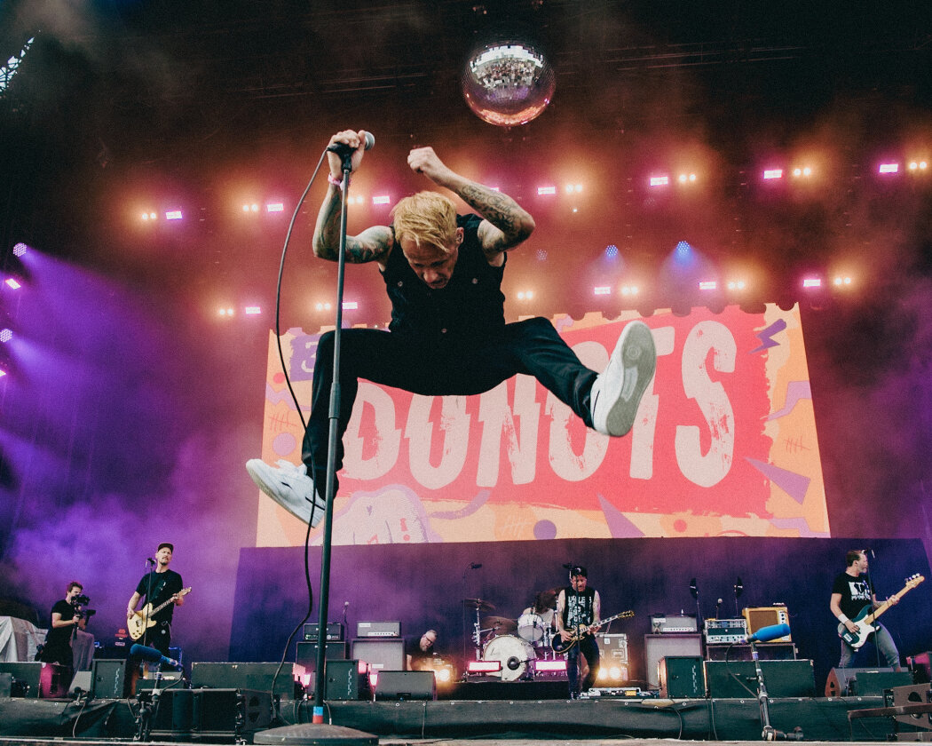
<instances>
[{"instance_id":1,"label":"whole white sneaker kicked out at right, showing its grey sole","mask_svg":"<svg viewBox=\"0 0 932 746\"><path fill-rule=\"evenodd\" d=\"M599 433L627 435L656 367L651 327L641 321L625 325L609 365L598 375L589 394L592 426Z\"/></svg>"}]
</instances>

